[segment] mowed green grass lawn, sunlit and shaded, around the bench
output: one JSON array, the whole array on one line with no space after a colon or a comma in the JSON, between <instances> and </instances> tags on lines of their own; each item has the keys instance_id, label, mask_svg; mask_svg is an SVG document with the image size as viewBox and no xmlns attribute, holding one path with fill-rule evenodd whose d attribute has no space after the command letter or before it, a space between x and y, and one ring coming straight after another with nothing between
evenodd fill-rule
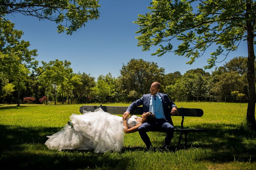
<instances>
[{"instance_id":1,"label":"mowed green grass lawn, sunlit and shaded, around the bench","mask_svg":"<svg viewBox=\"0 0 256 170\"><path fill-rule=\"evenodd\" d=\"M177 145L179 133L175 132L169 151L160 149L163 132L148 132L151 151L145 150L138 132L125 134L122 152L49 150L44 145L46 136L61 130L72 113L80 114L81 105L1 105L1 165L9 169L256 169L256 133L244 126L247 104L176 103L204 111L199 118L185 117L184 128L208 131L188 133L186 147ZM181 117L172 119L180 128Z\"/></svg>"}]
</instances>

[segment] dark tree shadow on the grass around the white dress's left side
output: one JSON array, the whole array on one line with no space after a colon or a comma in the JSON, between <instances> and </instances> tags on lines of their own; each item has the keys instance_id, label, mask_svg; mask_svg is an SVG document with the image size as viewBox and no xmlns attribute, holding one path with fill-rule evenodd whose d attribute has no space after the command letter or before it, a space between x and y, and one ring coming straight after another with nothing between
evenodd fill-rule
<instances>
[{"instance_id":1,"label":"dark tree shadow on the grass around the white dress's left side","mask_svg":"<svg viewBox=\"0 0 256 170\"><path fill-rule=\"evenodd\" d=\"M122 156L122 152L49 150L44 145L48 139L46 135L56 133L60 129L0 125L0 164L8 165L11 169L126 169L127 161L132 161ZM113 157L113 154L116 156Z\"/></svg>"}]
</instances>

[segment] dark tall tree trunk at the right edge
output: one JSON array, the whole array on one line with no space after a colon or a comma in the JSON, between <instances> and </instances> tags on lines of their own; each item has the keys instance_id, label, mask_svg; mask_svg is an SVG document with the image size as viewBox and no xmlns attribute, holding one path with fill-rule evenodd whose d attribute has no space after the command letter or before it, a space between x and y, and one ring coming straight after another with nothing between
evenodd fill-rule
<instances>
[{"instance_id":1,"label":"dark tall tree trunk at the right edge","mask_svg":"<svg viewBox=\"0 0 256 170\"><path fill-rule=\"evenodd\" d=\"M247 15L247 46L248 46L248 60L247 60L247 80L248 80L248 107L246 120L247 125L254 131L256 131L256 122L255 122L255 73L254 73L254 49L253 49L253 27L252 21L249 18L251 10L251 0L246 1L246 15Z\"/></svg>"}]
</instances>

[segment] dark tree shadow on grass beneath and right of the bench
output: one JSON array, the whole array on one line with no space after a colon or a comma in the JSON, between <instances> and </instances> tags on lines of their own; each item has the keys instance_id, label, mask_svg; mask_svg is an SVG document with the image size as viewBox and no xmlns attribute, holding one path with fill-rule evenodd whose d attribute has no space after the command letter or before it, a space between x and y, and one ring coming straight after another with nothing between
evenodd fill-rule
<instances>
[{"instance_id":1,"label":"dark tree shadow on grass beneath and right of the bench","mask_svg":"<svg viewBox=\"0 0 256 170\"><path fill-rule=\"evenodd\" d=\"M201 148L210 150L210 153L206 154L203 158L204 160L232 162L235 158L244 162L249 160L251 162L256 161L255 132L233 124L201 124L199 127L193 128L205 128L207 132L188 133L187 146L184 146L184 135L182 136L181 145L178 145L180 132L174 132L174 138L169 151L175 152L182 149ZM164 141L166 134L164 132L156 133ZM252 142L253 140L254 142ZM152 144L156 146L162 145L159 141L152 142Z\"/></svg>"}]
</instances>

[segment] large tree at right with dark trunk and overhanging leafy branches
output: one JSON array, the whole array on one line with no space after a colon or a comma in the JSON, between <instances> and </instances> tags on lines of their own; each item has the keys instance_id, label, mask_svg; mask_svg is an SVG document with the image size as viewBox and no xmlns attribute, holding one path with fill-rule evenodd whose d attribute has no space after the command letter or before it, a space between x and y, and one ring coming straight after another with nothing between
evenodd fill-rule
<instances>
[{"instance_id":1,"label":"large tree at right with dark trunk and overhanging leafy branches","mask_svg":"<svg viewBox=\"0 0 256 170\"><path fill-rule=\"evenodd\" d=\"M197 3L197 7L195 3ZM217 57L224 54L225 58L230 51L235 51L240 41L247 41L247 80L248 80L248 107L247 124L256 131L255 122L255 73L254 47L256 44L256 2L252 0L153 0L148 7L151 12L139 15L134 23L140 26L141 33L137 36L138 46L143 51L152 46L160 48L152 55L162 56L166 52L191 58L188 64L203 56L212 44L218 47L210 53L208 65L212 68ZM174 39L181 44L173 50ZM175 41L176 43L177 41ZM225 50L224 50L225 49ZM225 59L224 58L224 59Z\"/></svg>"}]
</instances>

